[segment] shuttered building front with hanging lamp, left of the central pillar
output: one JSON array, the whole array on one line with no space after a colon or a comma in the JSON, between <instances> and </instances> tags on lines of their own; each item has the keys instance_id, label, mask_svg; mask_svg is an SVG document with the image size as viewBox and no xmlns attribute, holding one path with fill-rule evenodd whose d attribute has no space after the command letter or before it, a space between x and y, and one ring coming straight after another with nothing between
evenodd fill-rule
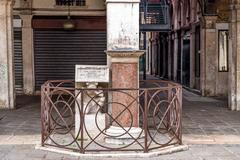
<instances>
[{"instance_id":1,"label":"shuttered building front with hanging lamp, left of the central pillar","mask_svg":"<svg viewBox=\"0 0 240 160\"><path fill-rule=\"evenodd\" d=\"M105 1L19 0L13 15L20 93L34 94L46 80L74 79L75 64L106 64Z\"/></svg>"}]
</instances>

